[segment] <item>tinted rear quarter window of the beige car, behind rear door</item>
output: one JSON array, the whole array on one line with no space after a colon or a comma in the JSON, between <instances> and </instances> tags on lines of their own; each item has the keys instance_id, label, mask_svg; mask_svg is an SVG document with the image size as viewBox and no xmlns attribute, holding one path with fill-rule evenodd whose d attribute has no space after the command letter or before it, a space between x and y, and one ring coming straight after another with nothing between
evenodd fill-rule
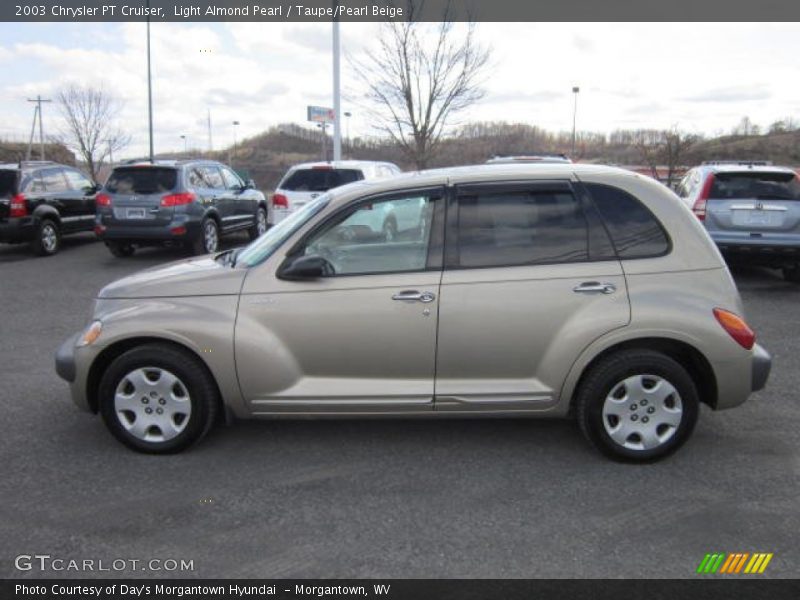
<instances>
[{"instance_id":1,"label":"tinted rear quarter window of the beige car, behind rear door","mask_svg":"<svg viewBox=\"0 0 800 600\"><path fill-rule=\"evenodd\" d=\"M614 186L600 183L585 186L619 258L651 258L669 252L670 241L664 227L640 200Z\"/></svg>"}]
</instances>

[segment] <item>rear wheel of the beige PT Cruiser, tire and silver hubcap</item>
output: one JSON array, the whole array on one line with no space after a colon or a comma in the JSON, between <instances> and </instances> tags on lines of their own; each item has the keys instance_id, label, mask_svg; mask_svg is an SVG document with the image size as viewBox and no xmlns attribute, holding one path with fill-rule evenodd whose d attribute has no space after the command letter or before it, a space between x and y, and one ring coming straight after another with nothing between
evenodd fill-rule
<instances>
[{"instance_id":1,"label":"rear wheel of the beige PT Cruiser, tire and silver hubcap","mask_svg":"<svg viewBox=\"0 0 800 600\"><path fill-rule=\"evenodd\" d=\"M677 450L698 416L697 388L678 362L660 352L625 350L603 358L576 395L584 435L617 460L646 462Z\"/></svg>"}]
</instances>

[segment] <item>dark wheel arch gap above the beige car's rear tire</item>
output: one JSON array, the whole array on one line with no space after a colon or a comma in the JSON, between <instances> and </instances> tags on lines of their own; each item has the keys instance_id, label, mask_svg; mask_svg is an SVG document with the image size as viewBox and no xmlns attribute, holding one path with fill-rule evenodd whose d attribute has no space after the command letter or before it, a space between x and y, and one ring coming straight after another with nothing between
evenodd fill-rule
<instances>
[{"instance_id":1,"label":"dark wheel arch gap above the beige car's rear tire","mask_svg":"<svg viewBox=\"0 0 800 600\"><path fill-rule=\"evenodd\" d=\"M641 337L616 342L595 354L580 370L575 383L564 392L569 398L569 414L575 413L575 398L586 375L601 360L622 350L654 350L669 356L689 373L697 386L700 401L716 409L718 400L717 378L711 363L705 355L692 344L669 337Z\"/></svg>"}]
</instances>

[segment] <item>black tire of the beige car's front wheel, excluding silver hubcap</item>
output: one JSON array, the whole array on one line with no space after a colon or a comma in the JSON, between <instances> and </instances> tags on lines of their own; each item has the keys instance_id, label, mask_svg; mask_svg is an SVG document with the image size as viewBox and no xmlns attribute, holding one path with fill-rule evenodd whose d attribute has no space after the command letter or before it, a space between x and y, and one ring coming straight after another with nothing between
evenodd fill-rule
<instances>
[{"instance_id":1,"label":"black tire of the beige car's front wheel, excluding silver hubcap","mask_svg":"<svg viewBox=\"0 0 800 600\"><path fill-rule=\"evenodd\" d=\"M118 416L115 408L115 394L127 376L137 369L148 368L156 371L163 369L173 374L188 392L191 414L182 431L171 439L146 440L137 437L123 426L122 419L127 420L127 417ZM148 405L151 414L152 407L158 410L157 403L160 402L160 399L154 398L152 406ZM220 401L214 379L196 357L169 344L154 343L128 350L111 363L100 380L98 403L103 421L120 442L139 452L170 454L185 450L208 433L216 421ZM142 411L146 408L142 408ZM144 412L136 412L134 423L140 417L143 420L151 418Z\"/></svg>"}]
</instances>

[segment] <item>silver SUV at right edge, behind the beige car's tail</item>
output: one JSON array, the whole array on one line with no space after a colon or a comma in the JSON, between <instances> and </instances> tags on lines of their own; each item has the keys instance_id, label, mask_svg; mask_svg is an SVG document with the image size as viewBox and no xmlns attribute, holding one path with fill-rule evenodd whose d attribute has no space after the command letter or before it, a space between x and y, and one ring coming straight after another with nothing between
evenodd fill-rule
<instances>
[{"instance_id":1,"label":"silver SUV at right edge, behind the beige car's tail","mask_svg":"<svg viewBox=\"0 0 800 600\"><path fill-rule=\"evenodd\" d=\"M686 173L678 195L728 257L783 270L800 283L800 181L765 161L713 161Z\"/></svg>"}]
</instances>

